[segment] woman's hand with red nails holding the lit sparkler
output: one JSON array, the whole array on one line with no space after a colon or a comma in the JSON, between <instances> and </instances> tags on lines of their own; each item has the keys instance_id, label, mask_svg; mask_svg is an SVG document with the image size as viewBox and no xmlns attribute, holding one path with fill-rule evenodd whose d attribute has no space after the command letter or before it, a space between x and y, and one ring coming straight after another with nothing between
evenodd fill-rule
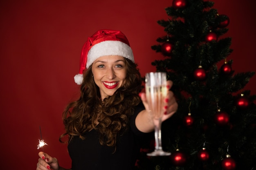
<instances>
[{"instance_id":1,"label":"woman's hand with red nails holding the lit sparkler","mask_svg":"<svg viewBox=\"0 0 256 170\"><path fill-rule=\"evenodd\" d=\"M56 158L51 157L47 153L39 152L38 163L36 164L36 170L59 170L60 167L58 165L58 160Z\"/></svg>"}]
</instances>

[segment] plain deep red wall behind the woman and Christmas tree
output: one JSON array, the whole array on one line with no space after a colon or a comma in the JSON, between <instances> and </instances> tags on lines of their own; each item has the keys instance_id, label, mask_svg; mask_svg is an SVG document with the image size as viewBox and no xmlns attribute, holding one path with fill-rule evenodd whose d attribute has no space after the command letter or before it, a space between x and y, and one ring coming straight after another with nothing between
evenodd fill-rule
<instances>
[{"instance_id":1,"label":"plain deep red wall behind the woman and Christmas tree","mask_svg":"<svg viewBox=\"0 0 256 170\"><path fill-rule=\"evenodd\" d=\"M214 0L230 18L235 73L256 71L254 0ZM165 35L157 20L167 20L172 0L9 0L0 2L0 169L36 169L39 126L44 151L70 168L61 114L79 94L74 75L87 37L98 29L120 29L134 51L141 75L155 71L162 56L151 50ZM220 64L222 65L222 63ZM256 94L254 76L244 88ZM93 147L93 146L92 146Z\"/></svg>"}]
</instances>

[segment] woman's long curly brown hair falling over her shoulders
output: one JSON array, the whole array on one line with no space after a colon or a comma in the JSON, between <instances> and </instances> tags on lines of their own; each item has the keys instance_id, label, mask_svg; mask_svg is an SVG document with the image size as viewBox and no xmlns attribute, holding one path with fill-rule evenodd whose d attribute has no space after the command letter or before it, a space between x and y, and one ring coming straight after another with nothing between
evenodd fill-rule
<instances>
[{"instance_id":1,"label":"woman's long curly brown hair falling over her shoulders","mask_svg":"<svg viewBox=\"0 0 256 170\"><path fill-rule=\"evenodd\" d=\"M97 130L100 134L101 145L115 146L117 136L128 130L128 121L134 113L134 107L141 102L139 92L142 80L137 64L125 58L126 78L123 86L117 89L112 96L101 101L99 87L92 77L92 66L84 74L81 84L81 96L71 102L63 111L63 123L66 132L59 138L79 136L85 139L85 132Z\"/></svg>"}]
</instances>

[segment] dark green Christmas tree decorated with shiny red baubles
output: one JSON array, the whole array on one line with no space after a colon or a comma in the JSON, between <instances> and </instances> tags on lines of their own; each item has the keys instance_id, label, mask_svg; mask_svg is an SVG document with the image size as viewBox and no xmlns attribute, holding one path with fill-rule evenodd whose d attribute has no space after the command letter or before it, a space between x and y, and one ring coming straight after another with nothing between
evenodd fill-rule
<instances>
[{"instance_id":1,"label":"dark green Christmas tree decorated with shiny red baubles","mask_svg":"<svg viewBox=\"0 0 256 170\"><path fill-rule=\"evenodd\" d=\"M166 36L152 49L165 57L152 65L168 73L179 108L162 124L163 147L172 155L146 157L141 150L138 169L256 169L256 95L243 90L254 72L232 70L231 38L222 36L229 18L213 4L173 0L169 19L158 21Z\"/></svg>"}]
</instances>

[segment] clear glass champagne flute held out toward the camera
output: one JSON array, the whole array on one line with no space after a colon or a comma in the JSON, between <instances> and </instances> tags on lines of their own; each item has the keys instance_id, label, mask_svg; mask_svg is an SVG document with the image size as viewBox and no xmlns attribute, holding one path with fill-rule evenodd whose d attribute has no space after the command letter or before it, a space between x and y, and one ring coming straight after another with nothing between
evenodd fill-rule
<instances>
[{"instance_id":1,"label":"clear glass champagne flute held out toward the camera","mask_svg":"<svg viewBox=\"0 0 256 170\"><path fill-rule=\"evenodd\" d=\"M162 149L161 125L164 114L164 98L167 95L166 73L150 72L146 73L146 98L150 114L155 126L155 150L148 153L148 156L168 156L170 152Z\"/></svg>"}]
</instances>

